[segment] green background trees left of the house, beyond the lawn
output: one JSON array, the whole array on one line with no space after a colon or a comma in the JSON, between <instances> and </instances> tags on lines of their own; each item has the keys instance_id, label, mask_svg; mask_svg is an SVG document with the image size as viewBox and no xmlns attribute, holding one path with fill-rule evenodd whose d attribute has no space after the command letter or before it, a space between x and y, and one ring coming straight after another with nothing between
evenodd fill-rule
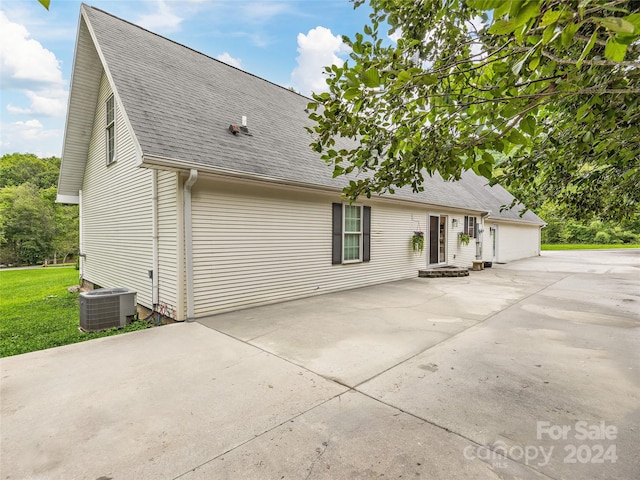
<instances>
[{"instance_id":1,"label":"green background trees left of the house, beyond the lawn","mask_svg":"<svg viewBox=\"0 0 640 480\"><path fill-rule=\"evenodd\" d=\"M0 158L0 264L63 262L78 253L78 206L56 203L60 159Z\"/></svg>"}]
</instances>

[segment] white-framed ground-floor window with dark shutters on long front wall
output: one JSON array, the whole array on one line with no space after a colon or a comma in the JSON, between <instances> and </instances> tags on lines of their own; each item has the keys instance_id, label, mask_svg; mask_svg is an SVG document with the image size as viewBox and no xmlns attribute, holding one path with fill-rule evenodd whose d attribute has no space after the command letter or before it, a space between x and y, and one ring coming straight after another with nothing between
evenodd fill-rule
<instances>
[{"instance_id":1,"label":"white-framed ground-floor window with dark shutters on long front wall","mask_svg":"<svg viewBox=\"0 0 640 480\"><path fill-rule=\"evenodd\" d=\"M371 207L333 204L332 263L371 259Z\"/></svg>"}]
</instances>

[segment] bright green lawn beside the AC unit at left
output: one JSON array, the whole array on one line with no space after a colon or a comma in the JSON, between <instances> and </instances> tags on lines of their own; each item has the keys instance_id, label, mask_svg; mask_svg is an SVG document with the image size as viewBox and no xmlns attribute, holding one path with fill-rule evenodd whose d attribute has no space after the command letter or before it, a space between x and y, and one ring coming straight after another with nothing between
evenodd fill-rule
<instances>
[{"instance_id":1,"label":"bright green lawn beside the AC unit at left","mask_svg":"<svg viewBox=\"0 0 640 480\"><path fill-rule=\"evenodd\" d=\"M0 271L0 357L58 347L150 326L136 321L123 329L82 333L78 284L73 267Z\"/></svg>"}]
</instances>

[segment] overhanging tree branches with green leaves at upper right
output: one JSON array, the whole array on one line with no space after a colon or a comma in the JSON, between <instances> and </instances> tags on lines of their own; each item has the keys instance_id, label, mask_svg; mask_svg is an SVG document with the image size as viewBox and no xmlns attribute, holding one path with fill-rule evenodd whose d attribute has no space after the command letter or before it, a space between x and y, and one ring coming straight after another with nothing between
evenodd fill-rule
<instances>
[{"instance_id":1,"label":"overhanging tree branches with green leaves at upper right","mask_svg":"<svg viewBox=\"0 0 640 480\"><path fill-rule=\"evenodd\" d=\"M343 38L350 58L326 67L328 91L309 105L312 148L335 176L357 174L348 197L471 169L530 207L638 211L640 2L369 5L363 32Z\"/></svg>"}]
</instances>

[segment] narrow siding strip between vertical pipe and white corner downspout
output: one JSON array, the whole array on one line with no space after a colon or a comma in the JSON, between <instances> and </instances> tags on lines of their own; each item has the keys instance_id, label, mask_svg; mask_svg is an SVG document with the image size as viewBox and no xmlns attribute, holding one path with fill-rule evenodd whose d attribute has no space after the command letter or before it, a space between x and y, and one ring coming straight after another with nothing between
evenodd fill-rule
<instances>
[{"instance_id":1,"label":"narrow siding strip between vertical pipe and white corner downspout","mask_svg":"<svg viewBox=\"0 0 640 480\"><path fill-rule=\"evenodd\" d=\"M158 172L158 310L175 320L184 320L184 255L182 204L178 202L179 174Z\"/></svg>"}]
</instances>

